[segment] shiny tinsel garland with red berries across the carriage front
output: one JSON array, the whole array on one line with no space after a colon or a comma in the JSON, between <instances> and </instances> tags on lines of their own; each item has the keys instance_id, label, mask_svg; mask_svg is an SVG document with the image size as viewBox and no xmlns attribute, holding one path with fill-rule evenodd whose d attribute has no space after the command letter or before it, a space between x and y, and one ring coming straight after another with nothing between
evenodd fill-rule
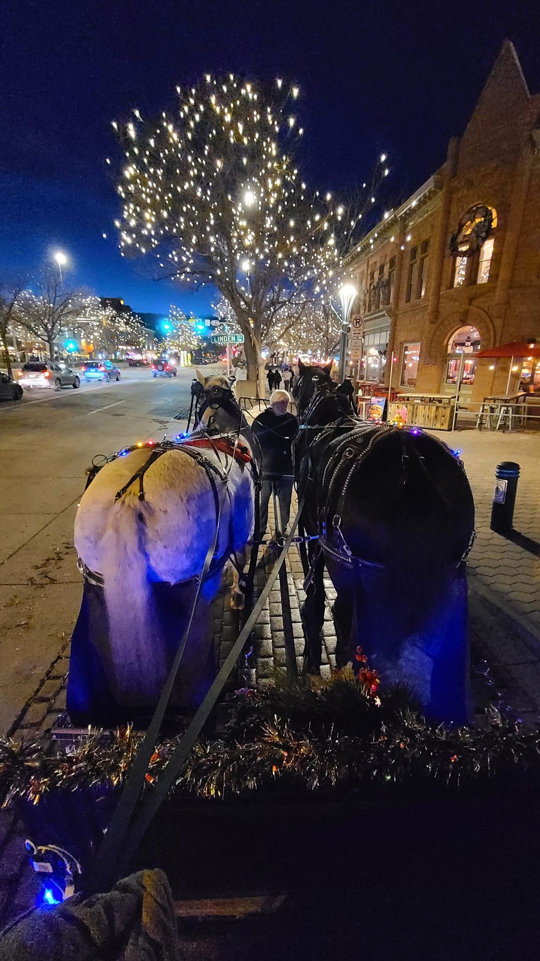
<instances>
[{"instance_id":1,"label":"shiny tinsel garland with red berries across the carriage front","mask_svg":"<svg viewBox=\"0 0 540 961\"><path fill-rule=\"evenodd\" d=\"M180 735L179 735L180 736ZM69 752L50 740L0 742L4 804L37 803L51 791L119 787L142 734L132 727L98 731ZM146 790L179 737L153 754ZM526 730L491 709L482 727L427 722L403 688L380 697L351 673L318 691L306 682L237 692L233 717L219 740L191 752L176 792L228 798L246 792L291 790L358 796L370 785L433 781L459 784L510 770L540 769L540 730Z\"/></svg>"}]
</instances>

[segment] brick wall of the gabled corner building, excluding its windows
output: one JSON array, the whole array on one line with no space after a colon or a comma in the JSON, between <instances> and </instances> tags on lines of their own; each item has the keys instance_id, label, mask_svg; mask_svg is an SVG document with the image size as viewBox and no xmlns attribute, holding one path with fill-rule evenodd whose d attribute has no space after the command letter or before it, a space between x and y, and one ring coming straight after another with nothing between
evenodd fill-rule
<instances>
[{"instance_id":1,"label":"brick wall of the gabled corner building, excluding its windows","mask_svg":"<svg viewBox=\"0 0 540 961\"><path fill-rule=\"evenodd\" d=\"M379 264L399 256L400 231L405 238L400 289L394 290L389 310L395 333L389 351L393 346L400 357L393 368L394 382L401 371L404 345L420 342L416 389L439 392L449 338L466 325L479 330L482 347L531 335L540 339L540 154L532 153L532 131L539 113L540 97L528 94L514 48L505 42L459 142L454 170L446 174L450 214L443 238L438 306L435 300L431 323L428 312L434 293L435 239L443 189L427 191L418 205L405 204L399 218L391 217L387 224L382 223L378 235L371 234L373 244L366 243L367 249L356 255L352 267L367 291L370 271L375 268L377 279ZM440 173L444 178L445 168ZM497 211L489 281L455 288L450 236L462 214L476 204ZM410 250L426 239L430 239L426 294L405 303ZM364 304L363 310L366 308ZM505 389L508 362L500 360L494 371L490 366L493 364L489 361L479 361L473 400Z\"/></svg>"}]
</instances>

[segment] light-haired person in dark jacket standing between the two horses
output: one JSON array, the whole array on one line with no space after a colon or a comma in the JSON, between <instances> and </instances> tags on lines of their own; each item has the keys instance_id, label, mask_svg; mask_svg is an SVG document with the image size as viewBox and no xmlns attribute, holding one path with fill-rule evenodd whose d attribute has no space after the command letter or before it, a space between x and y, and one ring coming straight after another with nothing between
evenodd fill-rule
<instances>
[{"instance_id":1,"label":"light-haired person in dark jacket standing between the two horses","mask_svg":"<svg viewBox=\"0 0 540 961\"><path fill-rule=\"evenodd\" d=\"M298 420L287 412L290 394L286 390L274 390L270 397L270 407L263 410L253 422L262 451L262 488L260 491L260 539L268 524L268 504L271 495L276 495L280 506L280 518L275 520L275 537L278 540L285 534L290 516L294 467L292 444L298 433ZM280 524L281 521L281 524Z\"/></svg>"}]
</instances>

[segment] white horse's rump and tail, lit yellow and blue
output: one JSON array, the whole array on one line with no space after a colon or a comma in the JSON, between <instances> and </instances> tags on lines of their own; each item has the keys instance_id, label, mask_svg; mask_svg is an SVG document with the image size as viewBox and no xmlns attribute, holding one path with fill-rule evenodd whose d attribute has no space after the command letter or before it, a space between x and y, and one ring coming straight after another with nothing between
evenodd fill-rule
<instances>
[{"instance_id":1,"label":"white horse's rump and tail, lit yellow and blue","mask_svg":"<svg viewBox=\"0 0 540 961\"><path fill-rule=\"evenodd\" d=\"M155 704L169 668L170 652L161 637L159 612L154 609L151 582L177 584L198 575L215 535L215 500L209 477L192 457L167 451L144 474L144 500L138 500L138 480L118 501L120 490L148 460L148 448L117 457L86 488L75 520L75 548L90 571L101 574L109 616L109 652L104 669L118 704ZM205 456L220 466L230 458L211 450ZM214 475L223 506L216 554L228 549L241 554L254 527L254 483L250 465L233 462L227 491ZM206 604L219 588L219 578L207 582ZM184 615L184 619L180 614ZM179 612L179 636L185 616ZM195 626L196 628L197 626ZM200 639L201 658L208 645ZM181 674L197 670L195 638L186 651ZM195 644L195 647L194 647ZM200 665L199 665L200 666ZM184 669L184 672L183 672Z\"/></svg>"}]
</instances>

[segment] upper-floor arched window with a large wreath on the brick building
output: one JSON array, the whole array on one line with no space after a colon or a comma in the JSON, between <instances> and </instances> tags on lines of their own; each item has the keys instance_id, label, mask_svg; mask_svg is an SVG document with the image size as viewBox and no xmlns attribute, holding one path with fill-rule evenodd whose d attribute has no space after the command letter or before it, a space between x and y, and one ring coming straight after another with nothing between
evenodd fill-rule
<instances>
[{"instance_id":1,"label":"upper-floor arched window with a large wreath on the brick building","mask_svg":"<svg viewBox=\"0 0 540 961\"><path fill-rule=\"evenodd\" d=\"M461 217L457 230L450 238L450 252L455 258L452 285L487 283L493 257L497 227L497 210L476 204Z\"/></svg>"}]
</instances>

